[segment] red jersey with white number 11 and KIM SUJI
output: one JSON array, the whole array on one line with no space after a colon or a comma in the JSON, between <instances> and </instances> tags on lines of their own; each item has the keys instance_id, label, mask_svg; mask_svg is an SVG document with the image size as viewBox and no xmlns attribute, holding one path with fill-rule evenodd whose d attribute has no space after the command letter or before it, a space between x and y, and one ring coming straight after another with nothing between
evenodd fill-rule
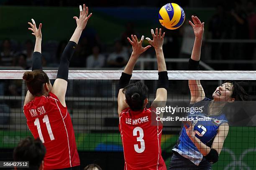
<instances>
[{"instance_id":1,"label":"red jersey with white number 11 and KIM SUJI","mask_svg":"<svg viewBox=\"0 0 256 170\"><path fill-rule=\"evenodd\" d=\"M71 117L56 95L35 97L24 105L24 114L33 137L46 147L45 170L80 165Z\"/></svg>"}]
</instances>

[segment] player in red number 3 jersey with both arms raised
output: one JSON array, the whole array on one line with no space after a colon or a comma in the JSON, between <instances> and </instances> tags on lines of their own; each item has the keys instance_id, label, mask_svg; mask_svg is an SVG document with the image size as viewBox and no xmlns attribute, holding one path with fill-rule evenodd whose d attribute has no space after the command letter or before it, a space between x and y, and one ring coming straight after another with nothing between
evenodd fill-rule
<instances>
[{"instance_id":1,"label":"player in red number 3 jersey with both arms raised","mask_svg":"<svg viewBox=\"0 0 256 170\"><path fill-rule=\"evenodd\" d=\"M165 106L168 89L168 75L163 53L164 35L161 29L156 34L151 30L153 40L146 38L150 45L142 47L144 36L138 41L136 35L131 35L128 41L133 52L123 70L119 82L118 116L119 130L123 143L125 170L166 170L161 156L161 122L156 121L156 107ZM151 107L148 103L148 87L142 82L129 84L134 65L138 57L153 46L156 51L158 63L158 87L156 99ZM151 115L152 113L152 115Z\"/></svg>"}]
</instances>

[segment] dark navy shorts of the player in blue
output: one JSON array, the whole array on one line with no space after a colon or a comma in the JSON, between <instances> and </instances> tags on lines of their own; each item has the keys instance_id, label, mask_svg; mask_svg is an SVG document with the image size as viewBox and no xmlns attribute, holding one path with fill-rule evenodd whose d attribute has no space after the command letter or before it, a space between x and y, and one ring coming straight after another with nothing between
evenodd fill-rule
<instances>
[{"instance_id":1,"label":"dark navy shorts of the player in blue","mask_svg":"<svg viewBox=\"0 0 256 170\"><path fill-rule=\"evenodd\" d=\"M200 164L197 166L187 158L174 153L170 161L168 170L211 170L212 164L209 163L205 158L202 159Z\"/></svg>"}]
</instances>

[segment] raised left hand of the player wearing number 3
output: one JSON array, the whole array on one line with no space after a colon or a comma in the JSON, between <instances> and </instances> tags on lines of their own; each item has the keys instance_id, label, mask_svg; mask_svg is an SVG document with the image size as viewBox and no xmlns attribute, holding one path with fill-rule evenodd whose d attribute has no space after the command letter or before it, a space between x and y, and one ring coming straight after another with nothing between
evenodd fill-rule
<instances>
[{"instance_id":1,"label":"raised left hand of the player wearing number 3","mask_svg":"<svg viewBox=\"0 0 256 170\"><path fill-rule=\"evenodd\" d=\"M142 42L144 40L144 35L142 35L141 40L138 41L138 38L136 35L131 35L132 40L127 37L128 41L131 43L132 47L133 47L133 52L132 52L132 56L136 55L139 56L141 55L143 52L145 52L146 50L148 50L148 48L151 47L151 45L148 45L146 47L142 47Z\"/></svg>"}]
</instances>

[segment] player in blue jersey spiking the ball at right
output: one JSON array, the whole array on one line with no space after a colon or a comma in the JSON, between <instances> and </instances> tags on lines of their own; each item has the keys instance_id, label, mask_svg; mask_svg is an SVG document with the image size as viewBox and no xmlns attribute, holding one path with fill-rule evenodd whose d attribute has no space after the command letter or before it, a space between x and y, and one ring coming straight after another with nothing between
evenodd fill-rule
<instances>
[{"instance_id":1,"label":"player in blue jersey spiking the ball at right","mask_svg":"<svg viewBox=\"0 0 256 170\"><path fill-rule=\"evenodd\" d=\"M199 70L200 51L204 23L192 16L189 21L195 33L195 43L189 59L189 70ZM213 92L213 100L205 97L200 80L189 80L191 93L190 107L202 109L189 112L187 117L202 120L185 121L177 144L172 149L173 156L169 170L210 170L218 161L225 138L228 135L228 120L222 112L227 103L248 100L248 94L235 81L225 81ZM205 118L205 119L203 119Z\"/></svg>"}]
</instances>

